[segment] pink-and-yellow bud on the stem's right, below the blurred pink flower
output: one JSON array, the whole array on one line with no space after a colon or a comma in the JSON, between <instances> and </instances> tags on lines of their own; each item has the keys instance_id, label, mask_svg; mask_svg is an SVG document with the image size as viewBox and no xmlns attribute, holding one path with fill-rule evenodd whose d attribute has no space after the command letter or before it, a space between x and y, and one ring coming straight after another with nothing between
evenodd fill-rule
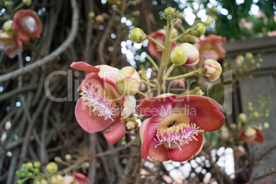
<instances>
[{"instance_id":1,"label":"pink-and-yellow bud on the stem's right, below the blurred pink flower","mask_svg":"<svg viewBox=\"0 0 276 184\"><path fill-rule=\"evenodd\" d=\"M204 65L196 72L198 73L198 76L203 76L207 78L207 80L213 82L220 77L222 67L220 66L220 63L216 62L216 60L208 59L205 60Z\"/></svg>"}]
</instances>

